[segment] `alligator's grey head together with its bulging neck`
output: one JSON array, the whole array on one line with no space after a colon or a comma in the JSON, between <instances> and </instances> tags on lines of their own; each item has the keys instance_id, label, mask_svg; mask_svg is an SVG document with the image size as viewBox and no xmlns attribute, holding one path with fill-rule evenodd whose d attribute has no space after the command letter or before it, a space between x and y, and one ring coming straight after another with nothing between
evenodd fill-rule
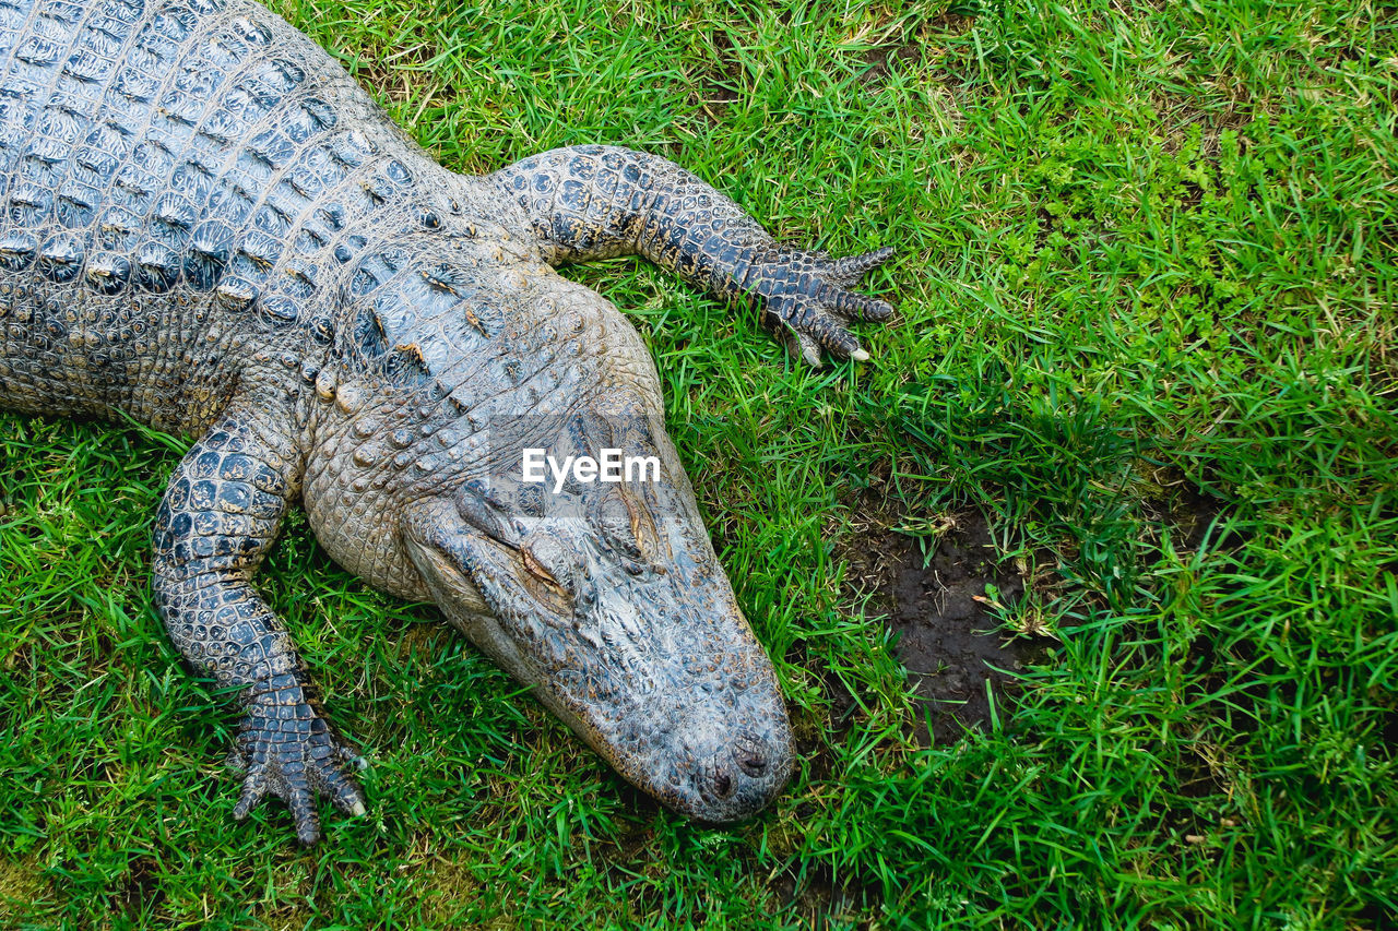
<instances>
[{"instance_id":1,"label":"alligator's grey head together with its bulging neck","mask_svg":"<svg viewBox=\"0 0 1398 931\"><path fill-rule=\"evenodd\" d=\"M435 601L633 784L740 821L790 777L791 728L665 435L650 354L598 295L523 252L502 264L506 247L482 233L447 267L428 242L375 270L393 277L317 377L310 524L345 568ZM658 468L531 482L527 449Z\"/></svg>"}]
</instances>

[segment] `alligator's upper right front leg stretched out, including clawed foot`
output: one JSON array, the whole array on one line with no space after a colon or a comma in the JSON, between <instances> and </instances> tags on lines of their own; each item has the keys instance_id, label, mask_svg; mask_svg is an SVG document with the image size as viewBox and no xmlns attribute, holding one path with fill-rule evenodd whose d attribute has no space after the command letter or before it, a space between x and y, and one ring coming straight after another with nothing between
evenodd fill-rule
<instances>
[{"instance_id":1,"label":"alligator's upper right front leg stretched out, including clawed foot","mask_svg":"<svg viewBox=\"0 0 1398 931\"><path fill-rule=\"evenodd\" d=\"M822 351L867 359L850 322L893 313L851 289L892 249L830 259L781 246L735 203L658 155L555 148L491 180L524 208L551 264L643 254L716 296L752 299L763 323L814 366Z\"/></svg>"}]
</instances>

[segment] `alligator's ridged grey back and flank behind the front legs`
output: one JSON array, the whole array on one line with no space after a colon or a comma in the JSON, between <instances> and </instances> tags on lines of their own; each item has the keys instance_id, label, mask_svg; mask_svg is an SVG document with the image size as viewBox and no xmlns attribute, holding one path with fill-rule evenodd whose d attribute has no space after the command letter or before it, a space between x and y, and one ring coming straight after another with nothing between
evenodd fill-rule
<instances>
[{"instance_id":1,"label":"alligator's ridged grey back and flank behind the front legs","mask_svg":"<svg viewBox=\"0 0 1398 931\"><path fill-rule=\"evenodd\" d=\"M0 405L193 433L313 370L432 172L253 3L0 0Z\"/></svg>"}]
</instances>

